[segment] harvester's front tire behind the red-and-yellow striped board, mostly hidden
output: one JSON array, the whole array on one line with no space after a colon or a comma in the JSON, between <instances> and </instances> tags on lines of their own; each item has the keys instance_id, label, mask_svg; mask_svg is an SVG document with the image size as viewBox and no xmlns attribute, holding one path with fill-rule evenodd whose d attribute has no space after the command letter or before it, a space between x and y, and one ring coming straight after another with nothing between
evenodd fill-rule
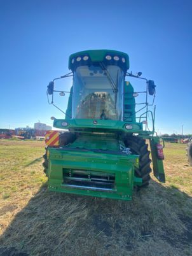
<instances>
[{"instance_id":1,"label":"harvester's front tire behind the red-and-yellow striped board, mostly hidden","mask_svg":"<svg viewBox=\"0 0 192 256\"><path fill-rule=\"evenodd\" d=\"M75 141L75 139L76 139L76 134L72 132L64 132L59 136L59 146L65 146L69 143L72 143ZM48 158L47 158L47 150L48 150L48 147L45 148L45 155L43 155L43 158L44 158L43 167L44 167L44 173L46 174L46 176L48 176L47 171L48 171L48 164L49 164Z\"/></svg>"}]
</instances>

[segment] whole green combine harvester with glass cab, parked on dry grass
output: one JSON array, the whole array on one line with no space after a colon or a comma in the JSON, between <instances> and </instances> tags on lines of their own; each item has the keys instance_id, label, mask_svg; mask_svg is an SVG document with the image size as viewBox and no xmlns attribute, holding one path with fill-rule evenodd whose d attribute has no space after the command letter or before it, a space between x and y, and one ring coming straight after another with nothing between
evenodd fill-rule
<instances>
[{"instance_id":1,"label":"whole green combine harvester with glass cab, parked on dry grass","mask_svg":"<svg viewBox=\"0 0 192 256\"><path fill-rule=\"evenodd\" d=\"M127 73L129 58L114 50L87 50L69 57L73 76L65 119L54 119L53 127L67 129L46 134L44 155L48 188L55 192L94 197L131 200L134 187L149 184L151 160L147 150L149 139L153 173L165 182L163 145L154 136L154 115L149 106L154 103L155 85L152 80ZM145 89L135 92L126 76L142 80ZM47 89L50 104L55 78ZM135 97L144 94L144 103ZM148 96L153 96L149 104ZM58 106L56 106L58 108ZM137 108L139 108L137 110ZM60 110L60 108L58 108ZM149 131L147 117L151 116Z\"/></svg>"}]
</instances>

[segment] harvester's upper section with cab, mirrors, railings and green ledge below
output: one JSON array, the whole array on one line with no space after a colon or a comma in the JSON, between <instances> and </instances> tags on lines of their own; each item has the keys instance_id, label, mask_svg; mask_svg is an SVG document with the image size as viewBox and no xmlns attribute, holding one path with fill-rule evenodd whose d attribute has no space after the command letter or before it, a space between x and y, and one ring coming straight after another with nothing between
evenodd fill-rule
<instances>
[{"instance_id":1,"label":"harvester's upper section with cab, mirrors, railings and green ledge below","mask_svg":"<svg viewBox=\"0 0 192 256\"><path fill-rule=\"evenodd\" d=\"M63 121L64 119L55 118L54 127L62 129L114 127L113 129L117 130L121 127L122 131L126 129L126 131L138 132L143 129L142 124L146 124L146 129L149 131L147 116L151 115L152 133L154 132L154 117L148 106L153 106L156 86L152 80L142 78L141 72L136 75L127 72L129 69L127 53L114 50L77 52L69 57L69 69L71 73L53 79L48 85L47 96L51 96L51 101L48 97L48 102L60 111L62 109L53 103L53 92L60 92L60 96L69 93L67 110L62 111L66 122ZM54 89L55 80L69 76L73 77L70 92ZM125 76L145 81L146 90L139 89L135 92L131 83L125 82ZM135 103L135 97L139 94L144 95L142 97L144 100ZM153 96L152 103L147 101L148 94Z\"/></svg>"}]
</instances>

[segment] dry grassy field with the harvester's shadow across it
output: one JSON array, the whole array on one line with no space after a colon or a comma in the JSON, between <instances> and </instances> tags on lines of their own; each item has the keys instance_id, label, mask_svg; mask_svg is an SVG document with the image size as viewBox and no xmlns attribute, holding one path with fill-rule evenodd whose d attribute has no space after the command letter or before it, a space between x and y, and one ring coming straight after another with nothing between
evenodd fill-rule
<instances>
[{"instance_id":1,"label":"dry grassy field with the harvester's shadow across it","mask_svg":"<svg viewBox=\"0 0 192 256\"><path fill-rule=\"evenodd\" d=\"M0 141L0 255L192 255L192 167L167 143L167 183L132 202L46 190L42 141Z\"/></svg>"}]
</instances>

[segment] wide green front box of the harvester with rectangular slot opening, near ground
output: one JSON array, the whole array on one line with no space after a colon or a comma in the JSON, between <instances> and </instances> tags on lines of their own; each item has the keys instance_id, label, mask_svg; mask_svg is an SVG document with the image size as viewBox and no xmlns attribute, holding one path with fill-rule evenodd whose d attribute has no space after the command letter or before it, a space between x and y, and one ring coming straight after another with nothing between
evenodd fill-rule
<instances>
[{"instance_id":1,"label":"wide green front box of the harvester with rectangular slot opening, near ground","mask_svg":"<svg viewBox=\"0 0 192 256\"><path fill-rule=\"evenodd\" d=\"M49 148L51 191L113 199L132 199L137 155Z\"/></svg>"}]
</instances>

